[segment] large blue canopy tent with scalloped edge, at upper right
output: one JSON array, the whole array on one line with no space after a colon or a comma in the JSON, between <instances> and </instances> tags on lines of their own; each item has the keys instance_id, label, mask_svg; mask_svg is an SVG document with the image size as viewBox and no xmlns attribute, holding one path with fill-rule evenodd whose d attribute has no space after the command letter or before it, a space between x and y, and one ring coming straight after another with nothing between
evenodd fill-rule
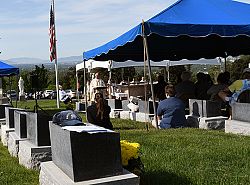
<instances>
[{"instance_id":1,"label":"large blue canopy tent with scalloped edge, at upper right","mask_svg":"<svg viewBox=\"0 0 250 185\"><path fill-rule=\"evenodd\" d=\"M250 54L250 5L232 0L179 0L83 60L195 60ZM155 107L155 106L154 106ZM156 114L155 114L156 117Z\"/></svg>"}]
</instances>

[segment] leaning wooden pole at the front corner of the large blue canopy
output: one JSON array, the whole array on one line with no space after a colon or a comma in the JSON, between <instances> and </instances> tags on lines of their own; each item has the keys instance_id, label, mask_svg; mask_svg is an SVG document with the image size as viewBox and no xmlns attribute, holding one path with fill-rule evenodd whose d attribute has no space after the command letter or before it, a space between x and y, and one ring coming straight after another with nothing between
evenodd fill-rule
<instances>
[{"instance_id":1,"label":"leaning wooden pole at the front corner of the large blue canopy","mask_svg":"<svg viewBox=\"0 0 250 185\"><path fill-rule=\"evenodd\" d=\"M152 72L151 72L151 65L150 65L150 59L149 59L149 53L148 53L147 37L146 37L146 34L145 34L145 27L144 27L144 21L143 20L142 20L142 34L143 34L143 45L145 47L144 55L146 55L147 64L148 64L148 72L149 72L149 80L150 80L151 93L152 93L152 99L153 99L155 123L156 123L156 128L158 129L158 118L157 118L157 114L156 114L156 104L155 104L155 95L154 95L154 88L153 88L153 81L152 81Z\"/></svg>"}]
</instances>

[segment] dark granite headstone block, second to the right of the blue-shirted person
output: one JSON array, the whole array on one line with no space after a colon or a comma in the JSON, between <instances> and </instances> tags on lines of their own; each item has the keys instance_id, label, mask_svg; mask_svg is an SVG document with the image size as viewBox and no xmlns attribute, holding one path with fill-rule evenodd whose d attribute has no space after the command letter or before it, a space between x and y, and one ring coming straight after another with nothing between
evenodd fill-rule
<instances>
[{"instance_id":1,"label":"dark granite headstone block, second to the right of the blue-shirted person","mask_svg":"<svg viewBox=\"0 0 250 185\"><path fill-rule=\"evenodd\" d=\"M221 104L215 101L203 100L203 117L221 116Z\"/></svg>"}]
</instances>

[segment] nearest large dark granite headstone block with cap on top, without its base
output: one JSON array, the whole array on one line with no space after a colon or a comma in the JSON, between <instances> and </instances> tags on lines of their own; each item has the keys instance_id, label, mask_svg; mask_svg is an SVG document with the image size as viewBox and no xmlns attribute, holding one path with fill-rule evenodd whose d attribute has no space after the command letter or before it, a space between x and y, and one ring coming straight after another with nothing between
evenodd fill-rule
<instances>
[{"instance_id":1,"label":"nearest large dark granite headstone block with cap on top, without its base","mask_svg":"<svg viewBox=\"0 0 250 185\"><path fill-rule=\"evenodd\" d=\"M63 130L50 122L53 162L74 182L122 174L120 135Z\"/></svg>"}]
</instances>

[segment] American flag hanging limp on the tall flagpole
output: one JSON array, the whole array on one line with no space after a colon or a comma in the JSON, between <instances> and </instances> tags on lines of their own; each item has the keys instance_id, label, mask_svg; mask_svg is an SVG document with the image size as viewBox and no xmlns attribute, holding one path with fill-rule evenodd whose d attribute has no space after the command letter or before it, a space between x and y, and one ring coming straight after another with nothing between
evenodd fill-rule
<instances>
[{"instance_id":1,"label":"American flag hanging limp on the tall flagpole","mask_svg":"<svg viewBox=\"0 0 250 185\"><path fill-rule=\"evenodd\" d=\"M56 39L55 39L55 17L53 6L50 8L50 27L49 27L49 35L50 35L50 61L52 62L56 59Z\"/></svg>"}]
</instances>

